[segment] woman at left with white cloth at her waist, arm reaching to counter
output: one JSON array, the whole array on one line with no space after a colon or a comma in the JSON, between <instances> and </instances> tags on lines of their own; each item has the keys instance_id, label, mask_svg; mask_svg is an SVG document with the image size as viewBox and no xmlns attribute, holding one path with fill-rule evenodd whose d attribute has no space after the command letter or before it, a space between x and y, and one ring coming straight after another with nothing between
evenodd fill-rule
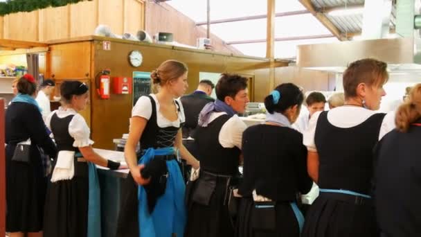
<instances>
[{"instance_id":1,"label":"woman at left with white cloth at her waist, arm reaching to counter","mask_svg":"<svg viewBox=\"0 0 421 237\"><path fill-rule=\"evenodd\" d=\"M60 86L62 107L46 119L59 150L44 213L46 237L96 237L100 232L100 191L96 164L111 170L120 163L93 151L90 130L78 114L89 100L87 85L64 81Z\"/></svg>"}]
</instances>

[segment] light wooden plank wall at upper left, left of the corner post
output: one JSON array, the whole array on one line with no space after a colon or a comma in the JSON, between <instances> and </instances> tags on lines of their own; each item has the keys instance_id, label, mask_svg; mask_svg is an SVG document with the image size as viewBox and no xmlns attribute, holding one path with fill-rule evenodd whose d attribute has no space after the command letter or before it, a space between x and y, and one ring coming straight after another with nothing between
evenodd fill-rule
<instances>
[{"instance_id":1,"label":"light wooden plank wall at upper left, left of the corner post","mask_svg":"<svg viewBox=\"0 0 421 237\"><path fill-rule=\"evenodd\" d=\"M0 17L0 38L44 42L93 35L99 24L115 34L145 28L143 0L81 1L58 8L17 12Z\"/></svg>"}]
</instances>

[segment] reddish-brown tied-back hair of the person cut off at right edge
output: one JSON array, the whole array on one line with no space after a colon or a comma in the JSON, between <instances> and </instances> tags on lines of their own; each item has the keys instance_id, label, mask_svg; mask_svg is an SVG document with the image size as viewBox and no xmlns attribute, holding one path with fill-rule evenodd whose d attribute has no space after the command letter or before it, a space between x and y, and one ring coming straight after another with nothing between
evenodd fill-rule
<instances>
[{"instance_id":1,"label":"reddish-brown tied-back hair of the person cut off at right edge","mask_svg":"<svg viewBox=\"0 0 421 237\"><path fill-rule=\"evenodd\" d=\"M421 118L421 83L409 92L409 100L400 105L396 112L396 129L407 132L411 123Z\"/></svg>"}]
</instances>

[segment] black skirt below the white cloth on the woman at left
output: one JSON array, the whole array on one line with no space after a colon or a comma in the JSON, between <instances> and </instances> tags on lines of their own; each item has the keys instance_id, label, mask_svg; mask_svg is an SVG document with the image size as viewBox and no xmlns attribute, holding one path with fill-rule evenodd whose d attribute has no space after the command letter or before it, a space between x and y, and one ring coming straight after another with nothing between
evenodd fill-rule
<instances>
[{"instance_id":1,"label":"black skirt below the white cloth on the woman at left","mask_svg":"<svg viewBox=\"0 0 421 237\"><path fill-rule=\"evenodd\" d=\"M86 162L76 164L73 179L48 185L44 237L85 237L88 234L88 167Z\"/></svg>"}]
</instances>

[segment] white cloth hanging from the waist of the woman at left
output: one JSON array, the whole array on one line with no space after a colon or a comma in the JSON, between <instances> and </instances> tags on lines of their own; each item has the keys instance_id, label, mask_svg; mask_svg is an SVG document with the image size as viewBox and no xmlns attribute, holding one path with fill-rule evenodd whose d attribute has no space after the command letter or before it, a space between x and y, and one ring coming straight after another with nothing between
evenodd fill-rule
<instances>
[{"instance_id":1,"label":"white cloth hanging from the waist of the woman at left","mask_svg":"<svg viewBox=\"0 0 421 237\"><path fill-rule=\"evenodd\" d=\"M73 179L75 175L74 159L74 150L60 150L57 155L53 175L51 175L51 182Z\"/></svg>"}]
</instances>

